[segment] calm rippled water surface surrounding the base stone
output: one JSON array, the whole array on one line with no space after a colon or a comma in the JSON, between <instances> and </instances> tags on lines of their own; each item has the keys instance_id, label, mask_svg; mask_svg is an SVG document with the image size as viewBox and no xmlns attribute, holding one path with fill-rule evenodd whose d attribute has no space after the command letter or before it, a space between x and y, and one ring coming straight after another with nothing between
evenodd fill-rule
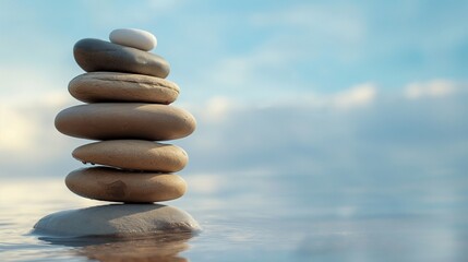
<instances>
[{"instance_id":1,"label":"calm rippled water surface surrounding the base stone","mask_svg":"<svg viewBox=\"0 0 468 262\"><path fill-rule=\"evenodd\" d=\"M189 193L167 203L201 234L128 239L32 234L49 213L106 203L74 195L62 178L3 179L0 261L468 261L465 178L376 189L229 176L187 176Z\"/></svg>"}]
</instances>

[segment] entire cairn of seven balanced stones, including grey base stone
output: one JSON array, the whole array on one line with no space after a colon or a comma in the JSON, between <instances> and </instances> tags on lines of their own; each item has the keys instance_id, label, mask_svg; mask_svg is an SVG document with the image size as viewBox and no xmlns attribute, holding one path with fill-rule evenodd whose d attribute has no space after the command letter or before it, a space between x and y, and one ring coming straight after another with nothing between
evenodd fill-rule
<instances>
[{"instance_id":1,"label":"entire cairn of seven balanced stones, including grey base stone","mask_svg":"<svg viewBox=\"0 0 468 262\"><path fill-rule=\"evenodd\" d=\"M84 198L124 204L59 211L40 218L35 233L76 237L197 233L199 223L187 212L153 203L180 198L187 189L185 181L172 174L187 165L187 153L156 141L191 134L195 119L169 106L179 87L165 80L168 62L148 52L156 47L155 36L116 29L109 38L110 43L75 44L74 58L87 73L73 79L69 92L87 104L59 112L56 128L98 141L73 151L76 159L98 166L70 172L67 187Z\"/></svg>"}]
</instances>

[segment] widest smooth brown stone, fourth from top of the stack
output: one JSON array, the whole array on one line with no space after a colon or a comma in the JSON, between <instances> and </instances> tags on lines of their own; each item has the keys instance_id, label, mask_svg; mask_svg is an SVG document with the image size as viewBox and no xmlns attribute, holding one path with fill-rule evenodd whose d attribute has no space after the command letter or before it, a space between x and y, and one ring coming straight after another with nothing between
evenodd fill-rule
<instances>
[{"instance_id":1,"label":"widest smooth brown stone, fourth from top of the stack","mask_svg":"<svg viewBox=\"0 0 468 262\"><path fill-rule=\"evenodd\" d=\"M56 128L63 134L92 140L175 140L191 134L195 126L183 109L141 103L79 105L56 117Z\"/></svg>"}]
</instances>

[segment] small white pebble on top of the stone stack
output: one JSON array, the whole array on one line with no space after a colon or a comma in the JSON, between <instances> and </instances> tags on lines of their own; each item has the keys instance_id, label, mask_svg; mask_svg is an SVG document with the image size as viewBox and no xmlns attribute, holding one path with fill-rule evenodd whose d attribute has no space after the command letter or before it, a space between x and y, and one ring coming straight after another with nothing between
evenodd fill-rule
<instances>
[{"instance_id":1,"label":"small white pebble on top of the stone stack","mask_svg":"<svg viewBox=\"0 0 468 262\"><path fill-rule=\"evenodd\" d=\"M157 46L156 37L142 29L119 28L110 32L109 40L113 44L133 47L143 51L149 51Z\"/></svg>"}]
</instances>

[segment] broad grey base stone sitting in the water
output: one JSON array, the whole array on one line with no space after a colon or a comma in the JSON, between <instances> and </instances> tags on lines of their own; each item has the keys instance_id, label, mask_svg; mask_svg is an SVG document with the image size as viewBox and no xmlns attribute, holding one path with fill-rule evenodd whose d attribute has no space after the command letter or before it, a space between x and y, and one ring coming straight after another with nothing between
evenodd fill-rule
<instances>
[{"instance_id":1,"label":"broad grey base stone sitting in the water","mask_svg":"<svg viewBox=\"0 0 468 262\"><path fill-rule=\"evenodd\" d=\"M201 230L187 212L160 204L111 204L61 211L43 217L34 228L36 233L74 237Z\"/></svg>"}]
</instances>

